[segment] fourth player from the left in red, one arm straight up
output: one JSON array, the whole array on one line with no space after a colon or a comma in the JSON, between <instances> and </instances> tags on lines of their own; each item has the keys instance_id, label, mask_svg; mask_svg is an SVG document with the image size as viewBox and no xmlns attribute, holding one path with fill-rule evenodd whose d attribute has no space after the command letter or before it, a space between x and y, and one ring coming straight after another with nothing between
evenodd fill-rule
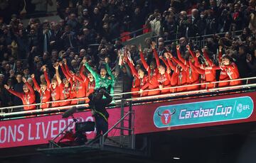
<instances>
[{"instance_id":1,"label":"fourth player from the left in red, one arm straight up","mask_svg":"<svg viewBox=\"0 0 256 163\"><path fill-rule=\"evenodd\" d=\"M67 100L71 98L71 86L67 78L63 80L60 79L60 74L58 72L58 67L61 63L56 62L53 67L55 68L56 79L58 81L58 86L60 87L60 100ZM71 101L60 101L60 106L68 106Z\"/></svg>"}]
</instances>

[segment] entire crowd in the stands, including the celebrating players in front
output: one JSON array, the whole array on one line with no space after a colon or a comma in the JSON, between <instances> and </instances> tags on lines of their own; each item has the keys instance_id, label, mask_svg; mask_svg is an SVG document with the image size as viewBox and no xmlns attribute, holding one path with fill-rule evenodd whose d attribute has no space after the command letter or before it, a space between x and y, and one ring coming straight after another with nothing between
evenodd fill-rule
<instances>
[{"instance_id":1,"label":"entire crowd in the stands, including the celebrating players in front","mask_svg":"<svg viewBox=\"0 0 256 163\"><path fill-rule=\"evenodd\" d=\"M23 107L30 110L87 103L58 101L82 98L100 87L110 94L132 91L120 96L128 98L242 84L171 89L256 76L255 4L57 0L58 22L31 18L23 24L18 13L8 22L0 18L0 106L41 103ZM122 33L138 30L134 37L145 29L154 38L146 38L144 46L123 45ZM193 38L209 34L203 47Z\"/></svg>"}]
</instances>

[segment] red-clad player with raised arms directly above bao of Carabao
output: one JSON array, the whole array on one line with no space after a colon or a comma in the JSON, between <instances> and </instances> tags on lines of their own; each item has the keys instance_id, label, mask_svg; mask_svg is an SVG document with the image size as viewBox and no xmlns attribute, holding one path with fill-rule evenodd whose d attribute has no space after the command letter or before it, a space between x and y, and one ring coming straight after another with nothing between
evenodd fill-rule
<instances>
[{"instance_id":1,"label":"red-clad player with raised arms directly above bao of Carabao","mask_svg":"<svg viewBox=\"0 0 256 163\"><path fill-rule=\"evenodd\" d=\"M203 82L214 82L216 81L216 70L215 69L205 69L206 67L210 66L210 67L214 67L214 64L213 64L213 61L210 60L209 56L208 56L208 53L206 52L205 49L202 49L203 51L203 57L206 59L206 62L205 64L199 64L198 62L198 57L200 56L200 52L196 52L196 57L195 58L195 69L196 69L196 72L198 72L199 74L201 74L201 83ZM191 54L193 54L192 50L189 49L189 52ZM195 56L195 55L193 55ZM200 69L203 69L203 74L201 73L202 71L199 70L198 68ZM202 89L206 89L206 85L203 84L201 85L201 88ZM207 89L213 89L215 88L215 84L207 84Z\"/></svg>"}]
</instances>

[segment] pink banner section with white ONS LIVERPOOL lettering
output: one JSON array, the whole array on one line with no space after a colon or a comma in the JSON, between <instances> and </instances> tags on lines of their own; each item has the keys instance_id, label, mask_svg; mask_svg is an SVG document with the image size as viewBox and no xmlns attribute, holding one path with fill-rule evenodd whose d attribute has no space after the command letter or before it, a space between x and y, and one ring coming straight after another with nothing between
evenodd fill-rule
<instances>
[{"instance_id":1,"label":"pink banner section with white ONS LIVERPOOL lettering","mask_svg":"<svg viewBox=\"0 0 256 163\"><path fill-rule=\"evenodd\" d=\"M111 114L109 125L112 126L119 120L120 109L110 109L109 113ZM94 121L91 111L75 113L74 117L80 122ZM0 121L0 148L46 144L70 123L73 123L73 118L62 118L61 115ZM74 128L75 123L70 125L67 130L73 130L75 133ZM118 134L118 131L114 132L113 130L109 136ZM87 132L87 138L93 137L95 137L95 132Z\"/></svg>"}]
</instances>

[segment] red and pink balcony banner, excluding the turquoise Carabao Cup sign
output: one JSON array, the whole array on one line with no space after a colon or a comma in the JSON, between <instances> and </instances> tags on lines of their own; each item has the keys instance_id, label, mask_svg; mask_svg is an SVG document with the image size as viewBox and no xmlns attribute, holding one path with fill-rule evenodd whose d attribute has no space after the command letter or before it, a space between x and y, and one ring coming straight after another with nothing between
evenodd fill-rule
<instances>
[{"instance_id":1,"label":"red and pink balcony banner, excluding the turquoise Carabao Cup sign","mask_svg":"<svg viewBox=\"0 0 256 163\"><path fill-rule=\"evenodd\" d=\"M171 128L156 128L154 125L154 111L159 106L174 105L180 103L193 103L198 101L211 101L215 99L226 99L235 96L250 96L255 103L255 92L243 93L243 94L230 94L225 96L212 96L197 99L183 99L178 101L148 103L138 106L133 106L132 109L135 113L134 132L135 134L152 133L164 130L178 130L185 128L198 128L213 125L226 125L233 123L245 123L256 120L255 111L249 118L241 120L230 120L224 122L215 123L202 123L196 125L182 125ZM125 108L127 110L128 108ZM109 126L112 127L114 123L120 118L120 108L108 109L110 113ZM80 121L92 121L93 117L90 111L84 111L74 114L75 118ZM53 139L60 131L62 131L68 124L72 123L72 118L61 118L61 115L51 116L38 116L35 118L23 118L17 120L4 120L0 121L0 148L6 147L19 147L26 145L40 145L48 143L48 140ZM125 124L127 127L127 124ZM74 128L74 125L68 128L68 130ZM119 135L119 130L113 130L109 136ZM95 136L94 132L87 133L87 137L92 138Z\"/></svg>"}]
</instances>

